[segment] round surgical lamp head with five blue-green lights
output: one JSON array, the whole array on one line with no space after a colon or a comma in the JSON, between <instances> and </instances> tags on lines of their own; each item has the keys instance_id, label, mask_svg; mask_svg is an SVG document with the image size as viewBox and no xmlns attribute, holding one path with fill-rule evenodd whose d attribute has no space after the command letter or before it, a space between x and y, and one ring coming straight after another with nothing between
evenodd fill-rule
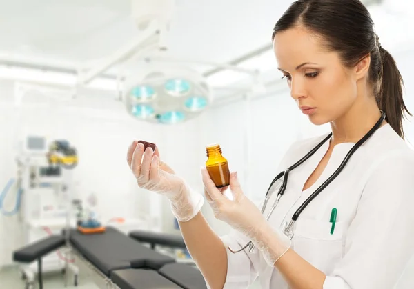
<instances>
[{"instance_id":1,"label":"round surgical lamp head with five blue-green lights","mask_svg":"<svg viewBox=\"0 0 414 289\"><path fill-rule=\"evenodd\" d=\"M197 117L212 102L210 86L195 70L163 63L144 71L124 84L123 99L132 117L181 123Z\"/></svg>"}]
</instances>

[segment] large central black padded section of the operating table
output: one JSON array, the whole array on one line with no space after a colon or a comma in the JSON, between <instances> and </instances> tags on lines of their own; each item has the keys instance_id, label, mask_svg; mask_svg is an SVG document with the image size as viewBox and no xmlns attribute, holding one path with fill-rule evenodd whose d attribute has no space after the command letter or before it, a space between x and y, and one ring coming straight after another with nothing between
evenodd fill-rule
<instances>
[{"instance_id":1,"label":"large central black padded section of the operating table","mask_svg":"<svg viewBox=\"0 0 414 289\"><path fill-rule=\"evenodd\" d=\"M85 235L74 229L70 231L69 240L73 248L108 277L112 270L158 270L166 263L175 262L175 259L141 245L112 227L107 227L106 232L92 235Z\"/></svg>"}]
</instances>

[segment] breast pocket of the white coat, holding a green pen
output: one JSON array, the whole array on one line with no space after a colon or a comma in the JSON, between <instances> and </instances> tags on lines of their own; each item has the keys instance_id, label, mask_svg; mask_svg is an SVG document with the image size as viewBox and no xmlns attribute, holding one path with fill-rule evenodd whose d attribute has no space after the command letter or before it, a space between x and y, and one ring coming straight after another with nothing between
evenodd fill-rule
<instances>
[{"instance_id":1,"label":"breast pocket of the white coat, holding a green pen","mask_svg":"<svg viewBox=\"0 0 414 289\"><path fill-rule=\"evenodd\" d=\"M293 237L293 249L306 261L324 272L331 273L344 254L344 222L332 223L315 219L298 219Z\"/></svg>"}]
</instances>

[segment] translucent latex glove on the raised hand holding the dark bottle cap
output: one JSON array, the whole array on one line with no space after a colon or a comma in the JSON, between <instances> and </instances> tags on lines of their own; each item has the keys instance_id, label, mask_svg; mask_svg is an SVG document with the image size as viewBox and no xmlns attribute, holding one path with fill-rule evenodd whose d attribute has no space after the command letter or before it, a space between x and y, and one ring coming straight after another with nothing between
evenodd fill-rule
<instances>
[{"instance_id":1,"label":"translucent latex glove on the raised hand holding the dark bottle cap","mask_svg":"<svg viewBox=\"0 0 414 289\"><path fill-rule=\"evenodd\" d=\"M189 221L201 210L204 198L160 161L157 147L155 152L149 147L144 152L144 145L134 141L128 148L127 162L140 188L165 195L170 200L172 214L178 221Z\"/></svg>"}]
</instances>

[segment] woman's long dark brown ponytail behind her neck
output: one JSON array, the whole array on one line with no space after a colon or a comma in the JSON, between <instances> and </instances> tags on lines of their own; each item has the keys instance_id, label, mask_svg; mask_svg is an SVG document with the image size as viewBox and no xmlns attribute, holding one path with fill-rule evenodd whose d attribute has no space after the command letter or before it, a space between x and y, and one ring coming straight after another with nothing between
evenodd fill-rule
<instances>
[{"instance_id":1,"label":"woman's long dark brown ponytail behind her neck","mask_svg":"<svg viewBox=\"0 0 414 289\"><path fill-rule=\"evenodd\" d=\"M408 112L403 99L404 81L391 54L381 46L380 54L382 58L382 77L380 77L380 93L377 103L380 110L386 113L386 121L391 128L404 139L402 118L405 113L412 116Z\"/></svg>"}]
</instances>

